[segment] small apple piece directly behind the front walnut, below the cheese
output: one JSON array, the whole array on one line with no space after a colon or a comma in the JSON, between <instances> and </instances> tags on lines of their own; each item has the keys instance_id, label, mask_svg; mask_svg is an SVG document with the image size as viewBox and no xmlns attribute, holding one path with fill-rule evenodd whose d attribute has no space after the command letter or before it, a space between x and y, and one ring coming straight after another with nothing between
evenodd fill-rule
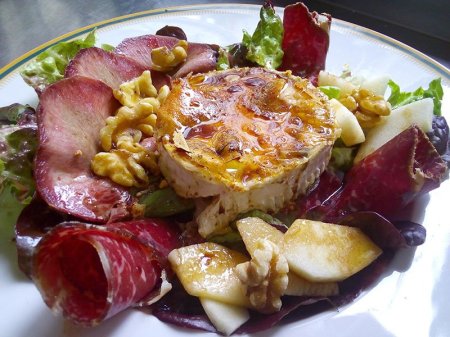
<instances>
[{"instance_id":1,"label":"small apple piece directly behind the front walnut, below the cheese","mask_svg":"<svg viewBox=\"0 0 450 337\"><path fill-rule=\"evenodd\" d=\"M283 242L283 233L260 218L244 218L238 220L236 226L244 241L245 248L252 257L254 257L253 253L257 249L257 242L260 239L269 240L276 246L280 246Z\"/></svg>"}]
</instances>

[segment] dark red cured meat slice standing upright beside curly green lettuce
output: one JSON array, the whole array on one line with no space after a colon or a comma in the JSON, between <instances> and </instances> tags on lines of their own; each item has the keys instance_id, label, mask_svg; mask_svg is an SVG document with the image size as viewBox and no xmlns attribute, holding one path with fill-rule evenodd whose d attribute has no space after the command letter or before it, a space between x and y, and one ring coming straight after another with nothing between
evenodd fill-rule
<instances>
[{"instance_id":1,"label":"dark red cured meat slice standing upright beside curly green lettuce","mask_svg":"<svg viewBox=\"0 0 450 337\"><path fill-rule=\"evenodd\" d=\"M309 12L303 3L286 6L283 16L284 52L281 69L317 84L330 44L331 15Z\"/></svg>"}]
</instances>

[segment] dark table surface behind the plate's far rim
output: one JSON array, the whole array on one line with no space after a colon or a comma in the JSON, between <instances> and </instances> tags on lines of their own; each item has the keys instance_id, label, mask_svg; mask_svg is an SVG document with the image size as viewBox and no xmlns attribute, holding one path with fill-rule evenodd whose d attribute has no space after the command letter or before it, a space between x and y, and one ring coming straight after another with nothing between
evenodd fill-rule
<instances>
[{"instance_id":1,"label":"dark table surface behind the plate's far rim","mask_svg":"<svg viewBox=\"0 0 450 337\"><path fill-rule=\"evenodd\" d=\"M260 0L0 0L0 68L74 29L134 12L198 3ZM286 6L296 1L274 1ZM311 10L393 37L450 68L450 1L304 1Z\"/></svg>"}]
</instances>

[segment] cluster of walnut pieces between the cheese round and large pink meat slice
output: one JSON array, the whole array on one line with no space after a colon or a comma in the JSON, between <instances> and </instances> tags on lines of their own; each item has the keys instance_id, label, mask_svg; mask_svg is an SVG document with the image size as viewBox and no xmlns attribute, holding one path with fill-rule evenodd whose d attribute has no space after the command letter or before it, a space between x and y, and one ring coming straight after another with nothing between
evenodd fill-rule
<instances>
[{"instance_id":1,"label":"cluster of walnut pieces between the cheese round and large pink meat slice","mask_svg":"<svg viewBox=\"0 0 450 337\"><path fill-rule=\"evenodd\" d=\"M114 90L122 107L100 130L100 145L105 152L97 153L91 161L95 174L127 187L146 187L148 175L159 174L158 153L141 142L153 137L156 112L169 92L166 85L156 90L148 70Z\"/></svg>"}]
</instances>

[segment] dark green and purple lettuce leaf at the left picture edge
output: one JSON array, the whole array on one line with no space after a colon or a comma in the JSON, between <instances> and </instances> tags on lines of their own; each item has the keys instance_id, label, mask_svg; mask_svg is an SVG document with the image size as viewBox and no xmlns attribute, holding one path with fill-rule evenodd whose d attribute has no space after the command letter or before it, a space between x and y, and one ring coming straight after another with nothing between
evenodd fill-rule
<instances>
[{"instance_id":1,"label":"dark green and purple lettuce leaf at the left picture edge","mask_svg":"<svg viewBox=\"0 0 450 337\"><path fill-rule=\"evenodd\" d=\"M4 121L8 116L12 123ZM20 203L28 203L35 191L33 160L37 148L34 110L13 104L0 108L0 192L9 190Z\"/></svg>"}]
</instances>

